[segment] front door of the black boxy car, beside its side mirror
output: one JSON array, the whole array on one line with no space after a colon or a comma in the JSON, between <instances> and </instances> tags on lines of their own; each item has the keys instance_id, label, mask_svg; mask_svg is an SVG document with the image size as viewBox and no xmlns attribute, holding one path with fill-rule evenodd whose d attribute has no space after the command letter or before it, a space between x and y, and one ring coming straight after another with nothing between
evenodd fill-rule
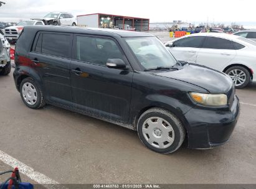
<instances>
[{"instance_id":1,"label":"front door of the black boxy car, beside its side mirror","mask_svg":"<svg viewBox=\"0 0 256 189\"><path fill-rule=\"evenodd\" d=\"M74 107L102 118L127 122L133 72L108 68L108 58L121 58L130 69L114 39L74 35L71 62Z\"/></svg>"}]
</instances>

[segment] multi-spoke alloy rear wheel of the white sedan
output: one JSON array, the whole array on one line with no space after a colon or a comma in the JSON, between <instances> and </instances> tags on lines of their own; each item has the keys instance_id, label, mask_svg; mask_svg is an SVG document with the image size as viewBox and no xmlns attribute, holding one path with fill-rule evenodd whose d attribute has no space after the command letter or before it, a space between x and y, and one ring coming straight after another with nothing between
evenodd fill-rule
<instances>
[{"instance_id":1,"label":"multi-spoke alloy rear wheel of the white sedan","mask_svg":"<svg viewBox=\"0 0 256 189\"><path fill-rule=\"evenodd\" d=\"M235 88L244 88L250 82L250 72L244 67L230 67L225 73L233 80Z\"/></svg>"}]
</instances>

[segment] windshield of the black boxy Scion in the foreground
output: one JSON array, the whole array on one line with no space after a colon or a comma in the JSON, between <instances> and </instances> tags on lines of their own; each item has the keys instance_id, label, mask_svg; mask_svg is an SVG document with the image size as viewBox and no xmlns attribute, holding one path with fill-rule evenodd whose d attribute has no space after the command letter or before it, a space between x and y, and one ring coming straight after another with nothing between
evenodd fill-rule
<instances>
[{"instance_id":1,"label":"windshield of the black boxy Scion in the foreground","mask_svg":"<svg viewBox=\"0 0 256 189\"><path fill-rule=\"evenodd\" d=\"M125 39L145 69L173 67L176 60L156 37L129 37Z\"/></svg>"}]
</instances>

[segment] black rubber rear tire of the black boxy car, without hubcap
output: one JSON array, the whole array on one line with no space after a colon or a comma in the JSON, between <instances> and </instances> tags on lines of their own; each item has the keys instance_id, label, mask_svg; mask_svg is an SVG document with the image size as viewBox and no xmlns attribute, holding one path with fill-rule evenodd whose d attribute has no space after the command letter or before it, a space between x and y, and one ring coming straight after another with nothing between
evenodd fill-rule
<instances>
[{"instance_id":1,"label":"black rubber rear tire of the black boxy car, without hubcap","mask_svg":"<svg viewBox=\"0 0 256 189\"><path fill-rule=\"evenodd\" d=\"M32 105L28 104L26 102L26 100L24 99L24 96L22 94L22 86L24 85L24 83L31 83L34 86L34 88L36 89L37 100L36 100L35 104L32 104ZM40 85L37 84L37 82L35 80L33 80L33 78L25 78L24 80L22 80L19 91L21 93L21 99L24 102L24 104L26 104L27 107L32 108L32 109L39 109L39 108L44 107L44 105L45 105L44 93L42 92Z\"/></svg>"}]
</instances>

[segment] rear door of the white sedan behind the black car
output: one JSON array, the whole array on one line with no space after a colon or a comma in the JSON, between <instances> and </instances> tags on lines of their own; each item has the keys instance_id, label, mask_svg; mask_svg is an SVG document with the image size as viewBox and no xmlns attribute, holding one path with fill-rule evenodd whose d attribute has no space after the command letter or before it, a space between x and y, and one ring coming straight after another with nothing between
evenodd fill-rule
<instances>
[{"instance_id":1,"label":"rear door of the white sedan behind the black car","mask_svg":"<svg viewBox=\"0 0 256 189\"><path fill-rule=\"evenodd\" d=\"M235 55L236 50L231 40L207 36L197 55L196 63L223 71Z\"/></svg>"}]
</instances>

